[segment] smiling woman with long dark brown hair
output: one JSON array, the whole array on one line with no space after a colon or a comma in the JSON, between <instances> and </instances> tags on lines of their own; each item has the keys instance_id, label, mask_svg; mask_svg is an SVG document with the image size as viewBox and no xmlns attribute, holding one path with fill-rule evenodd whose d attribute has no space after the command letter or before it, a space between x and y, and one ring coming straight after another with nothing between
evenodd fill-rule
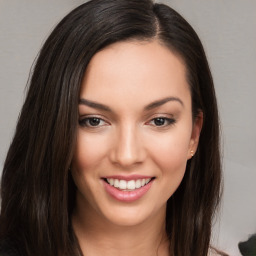
<instances>
[{"instance_id":1,"label":"smiling woman with long dark brown hair","mask_svg":"<svg viewBox=\"0 0 256 256\"><path fill-rule=\"evenodd\" d=\"M150 0L93 0L45 42L3 169L14 255L209 255L218 112L201 42Z\"/></svg>"}]
</instances>

